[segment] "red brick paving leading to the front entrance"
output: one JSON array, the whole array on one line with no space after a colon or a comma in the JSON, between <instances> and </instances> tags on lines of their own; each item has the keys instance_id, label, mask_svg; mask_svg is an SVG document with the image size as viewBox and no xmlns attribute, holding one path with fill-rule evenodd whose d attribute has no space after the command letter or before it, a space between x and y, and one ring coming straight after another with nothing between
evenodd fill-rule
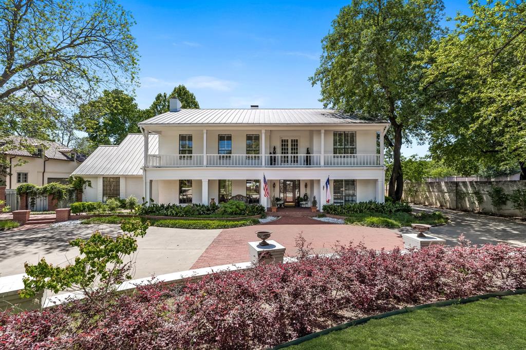
<instances>
[{"instance_id":1,"label":"red brick paving leading to the front entrance","mask_svg":"<svg viewBox=\"0 0 526 350\"><path fill-rule=\"evenodd\" d=\"M282 244L287 249L286 255L295 255L295 238L303 232L303 236L310 242L317 253L327 253L339 241L342 244L349 242L363 242L368 248L380 250L403 248L403 241L399 234L389 229L377 229L370 227L323 224L315 222L306 224L305 220L315 221L310 218L288 218L297 220L296 225L279 224L285 218L265 224L265 230L272 231L270 239ZM301 220L301 221L300 221ZM262 225L246 226L236 229L222 230L216 239L199 256L199 259L191 267L216 266L249 261L248 242L257 241L255 232Z\"/></svg>"}]
</instances>

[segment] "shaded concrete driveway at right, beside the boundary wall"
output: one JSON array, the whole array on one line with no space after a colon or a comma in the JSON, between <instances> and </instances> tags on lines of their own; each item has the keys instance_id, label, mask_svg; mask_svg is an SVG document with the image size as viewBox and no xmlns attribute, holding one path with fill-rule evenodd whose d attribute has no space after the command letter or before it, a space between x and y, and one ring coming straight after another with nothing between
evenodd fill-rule
<instances>
[{"instance_id":1,"label":"shaded concrete driveway at right, beside the boundary wall","mask_svg":"<svg viewBox=\"0 0 526 350\"><path fill-rule=\"evenodd\" d=\"M413 210L414 212L440 211L449 217L451 220L449 224L431 228L431 234L447 240L450 245L457 244L459 235L463 233L473 244L508 243L515 246L526 246L526 222L524 221L421 205L413 205ZM400 231L412 230L404 228Z\"/></svg>"}]
</instances>

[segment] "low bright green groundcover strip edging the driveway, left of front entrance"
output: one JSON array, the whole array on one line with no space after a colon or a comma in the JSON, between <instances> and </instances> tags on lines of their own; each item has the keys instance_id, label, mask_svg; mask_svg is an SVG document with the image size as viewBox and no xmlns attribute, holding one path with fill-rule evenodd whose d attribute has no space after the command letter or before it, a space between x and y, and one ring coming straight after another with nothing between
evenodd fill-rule
<instances>
[{"instance_id":1,"label":"low bright green groundcover strip edging the driveway, left of front entrance","mask_svg":"<svg viewBox=\"0 0 526 350\"><path fill-rule=\"evenodd\" d=\"M126 217L94 217L83 220L83 224L122 224L129 220L137 220L137 218L126 218ZM141 218L143 222L149 221L150 226L157 227L168 227L168 228L177 228L177 229L200 229L200 230L210 230L210 229L231 229L241 226L255 225L259 223L257 219L246 219L239 221L231 220L148 220Z\"/></svg>"}]
</instances>

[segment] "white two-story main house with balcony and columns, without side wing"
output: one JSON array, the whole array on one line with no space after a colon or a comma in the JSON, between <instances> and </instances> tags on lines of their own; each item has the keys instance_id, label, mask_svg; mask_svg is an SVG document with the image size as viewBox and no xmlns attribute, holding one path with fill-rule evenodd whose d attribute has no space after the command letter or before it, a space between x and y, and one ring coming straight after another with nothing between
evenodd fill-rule
<instances>
[{"instance_id":1,"label":"white two-story main house with balcony and columns, without side wing","mask_svg":"<svg viewBox=\"0 0 526 350\"><path fill-rule=\"evenodd\" d=\"M161 203L216 203L242 198L270 207L384 200L383 136L388 122L330 109L181 109L139 123L144 136L146 198ZM147 140L158 136L155 153ZM151 143L151 141L150 141ZM278 201L280 202L280 201ZM304 206L305 203L303 203Z\"/></svg>"}]
</instances>

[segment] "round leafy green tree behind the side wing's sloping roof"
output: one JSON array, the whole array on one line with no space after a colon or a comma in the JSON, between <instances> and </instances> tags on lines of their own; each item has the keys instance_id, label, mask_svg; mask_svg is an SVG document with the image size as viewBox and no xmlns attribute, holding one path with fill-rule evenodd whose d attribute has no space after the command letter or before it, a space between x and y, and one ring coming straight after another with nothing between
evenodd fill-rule
<instances>
[{"instance_id":1,"label":"round leafy green tree behind the side wing's sloping roof","mask_svg":"<svg viewBox=\"0 0 526 350\"><path fill-rule=\"evenodd\" d=\"M139 132L137 123L145 117L134 97L114 89L81 105L74 121L78 130L88 134L92 146L118 145L128 133Z\"/></svg>"}]
</instances>

